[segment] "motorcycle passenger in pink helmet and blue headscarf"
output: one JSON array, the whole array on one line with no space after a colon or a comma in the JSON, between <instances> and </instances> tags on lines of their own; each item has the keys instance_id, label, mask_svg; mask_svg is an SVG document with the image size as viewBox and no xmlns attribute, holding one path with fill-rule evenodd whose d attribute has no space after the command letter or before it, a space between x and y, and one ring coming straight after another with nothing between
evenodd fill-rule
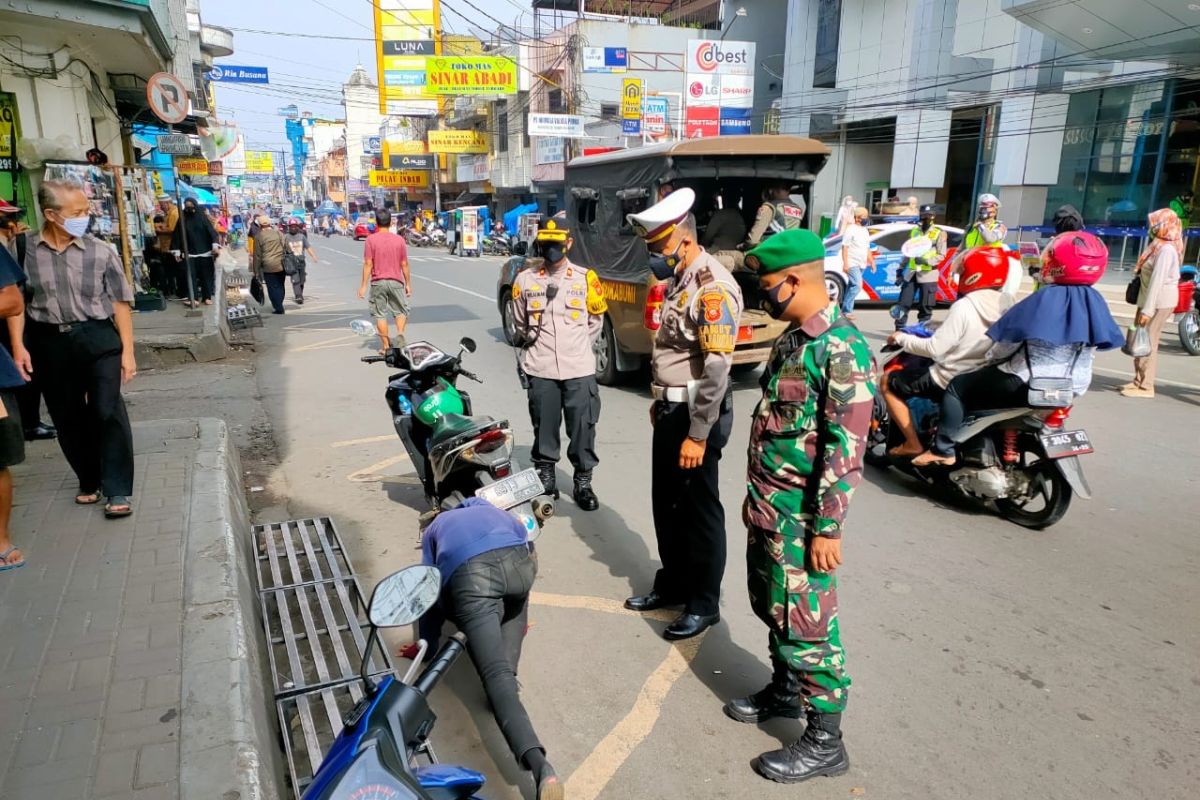
<instances>
[{"instance_id":1,"label":"motorcycle passenger in pink helmet and blue headscarf","mask_svg":"<svg viewBox=\"0 0 1200 800\"><path fill-rule=\"evenodd\" d=\"M988 338L995 342L988 351L989 366L964 373L947 386L934 446L914 458L914 465L953 465L955 437L967 410L1028 405L1034 379L1044 384L1069 381L1062 387L1067 393L1063 405L1087 391L1096 351L1124 342L1108 303L1092 288L1104 275L1108 260L1104 242L1090 233L1055 236L1046 246L1042 270L1046 287L1009 308L988 329Z\"/></svg>"}]
</instances>

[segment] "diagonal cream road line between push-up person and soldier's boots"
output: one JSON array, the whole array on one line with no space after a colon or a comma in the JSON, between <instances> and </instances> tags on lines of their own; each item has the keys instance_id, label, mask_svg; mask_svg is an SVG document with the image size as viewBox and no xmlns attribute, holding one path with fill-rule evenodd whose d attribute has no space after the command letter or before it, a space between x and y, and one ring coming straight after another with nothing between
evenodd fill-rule
<instances>
[{"instance_id":1,"label":"diagonal cream road line between push-up person and soldier's boots","mask_svg":"<svg viewBox=\"0 0 1200 800\"><path fill-rule=\"evenodd\" d=\"M578 769L566 778L565 794L571 800L595 800L629 756L654 729L662 703L676 681L696 657L704 636L676 643L662 663L650 673L637 693L637 700L625 718L593 748Z\"/></svg>"}]
</instances>

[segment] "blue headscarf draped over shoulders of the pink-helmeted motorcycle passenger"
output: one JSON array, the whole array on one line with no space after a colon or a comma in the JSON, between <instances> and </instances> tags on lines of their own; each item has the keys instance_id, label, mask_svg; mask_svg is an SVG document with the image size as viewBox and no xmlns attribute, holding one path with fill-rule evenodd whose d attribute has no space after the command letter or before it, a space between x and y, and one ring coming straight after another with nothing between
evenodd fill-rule
<instances>
[{"instance_id":1,"label":"blue headscarf draped over shoulders of the pink-helmeted motorcycle passenger","mask_svg":"<svg viewBox=\"0 0 1200 800\"><path fill-rule=\"evenodd\" d=\"M1111 350L1124 344L1109 305L1092 287L1051 284L1009 308L988 329L994 342L1084 344Z\"/></svg>"}]
</instances>

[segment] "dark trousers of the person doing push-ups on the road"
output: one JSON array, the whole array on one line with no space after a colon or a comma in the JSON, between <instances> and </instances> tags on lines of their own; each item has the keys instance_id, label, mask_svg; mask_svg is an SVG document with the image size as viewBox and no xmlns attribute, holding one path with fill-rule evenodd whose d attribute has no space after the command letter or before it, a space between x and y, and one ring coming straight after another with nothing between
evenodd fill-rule
<instances>
[{"instance_id":1,"label":"dark trousers of the person doing push-ups on the road","mask_svg":"<svg viewBox=\"0 0 1200 800\"><path fill-rule=\"evenodd\" d=\"M442 609L467 634L467 652L518 763L542 747L517 693L516 676L536 576L538 560L521 545L476 555L442 589Z\"/></svg>"}]
</instances>

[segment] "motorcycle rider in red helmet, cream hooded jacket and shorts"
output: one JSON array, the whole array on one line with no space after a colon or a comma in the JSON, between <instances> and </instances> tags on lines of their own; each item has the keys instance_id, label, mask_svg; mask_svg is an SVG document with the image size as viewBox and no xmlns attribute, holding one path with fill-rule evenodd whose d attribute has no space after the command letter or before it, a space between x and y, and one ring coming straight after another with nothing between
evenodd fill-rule
<instances>
[{"instance_id":1,"label":"motorcycle rider in red helmet, cream hooded jacket and shorts","mask_svg":"<svg viewBox=\"0 0 1200 800\"><path fill-rule=\"evenodd\" d=\"M946 320L931 337L896 331L889 344L905 353L924 356L931 365L886 372L883 399L893 423L904 433L904 443L888 451L894 458L919 456L924 447L908 410L908 399L924 397L941 402L955 375L976 369L985 362L991 339L988 329L1012 305L1000 291L1008 277L1008 254L994 247L977 247L966 254L959 279L959 299L950 306Z\"/></svg>"}]
</instances>

